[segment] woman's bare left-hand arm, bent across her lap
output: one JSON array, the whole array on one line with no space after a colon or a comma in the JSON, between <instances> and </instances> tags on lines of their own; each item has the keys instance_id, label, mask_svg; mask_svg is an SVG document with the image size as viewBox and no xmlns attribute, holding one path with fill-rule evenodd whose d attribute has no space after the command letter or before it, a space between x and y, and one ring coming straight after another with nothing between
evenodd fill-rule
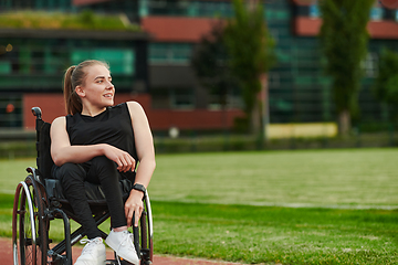
<instances>
[{"instance_id":1,"label":"woman's bare left-hand arm, bent across her lap","mask_svg":"<svg viewBox=\"0 0 398 265\"><path fill-rule=\"evenodd\" d=\"M71 146L66 131L66 118L59 117L54 119L50 130L51 137L51 157L56 166L66 162L82 163L94 157L106 156L118 165L119 171L128 171L135 168L134 158L126 151L116 147L100 144L91 146Z\"/></svg>"}]
</instances>

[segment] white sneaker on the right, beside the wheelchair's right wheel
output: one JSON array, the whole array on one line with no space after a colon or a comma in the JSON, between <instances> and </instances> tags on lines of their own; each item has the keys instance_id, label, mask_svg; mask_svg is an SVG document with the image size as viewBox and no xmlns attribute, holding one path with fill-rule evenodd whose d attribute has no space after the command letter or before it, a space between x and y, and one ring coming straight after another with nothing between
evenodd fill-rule
<instances>
[{"instance_id":1,"label":"white sneaker on the right, beside the wheelchair's right wheel","mask_svg":"<svg viewBox=\"0 0 398 265\"><path fill-rule=\"evenodd\" d=\"M116 252L116 255L129 263L138 265L139 258L133 242L133 234L128 231L114 232L112 230L105 240L105 243Z\"/></svg>"}]
</instances>

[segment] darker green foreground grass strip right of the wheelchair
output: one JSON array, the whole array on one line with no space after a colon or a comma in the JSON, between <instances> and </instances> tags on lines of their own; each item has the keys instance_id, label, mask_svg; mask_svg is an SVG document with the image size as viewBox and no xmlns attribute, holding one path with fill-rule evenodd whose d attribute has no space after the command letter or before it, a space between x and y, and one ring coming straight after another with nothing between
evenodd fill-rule
<instances>
[{"instance_id":1,"label":"darker green foreground grass strip right of the wheelchair","mask_svg":"<svg viewBox=\"0 0 398 265\"><path fill-rule=\"evenodd\" d=\"M253 264L398 263L392 211L156 202L154 212L159 253Z\"/></svg>"}]
</instances>

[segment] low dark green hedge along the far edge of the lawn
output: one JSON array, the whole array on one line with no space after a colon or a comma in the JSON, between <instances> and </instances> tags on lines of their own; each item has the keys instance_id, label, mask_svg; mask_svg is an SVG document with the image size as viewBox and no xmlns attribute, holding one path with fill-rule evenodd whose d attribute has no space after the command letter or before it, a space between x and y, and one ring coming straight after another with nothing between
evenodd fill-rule
<instances>
[{"instance_id":1,"label":"low dark green hedge along the far edge of the lawn","mask_svg":"<svg viewBox=\"0 0 398 265\"><path fill-rule=\"evenodd\" d=\"M346 138L291 138L261 142L250 136L192 136L171 139L155 137L157 153L213 152L244 150L289 150L324 148L396 147L398 136L392 134L363 134ZM35 157L34 140L0 142L0 158Z\"/></svg>"}]
</instances>

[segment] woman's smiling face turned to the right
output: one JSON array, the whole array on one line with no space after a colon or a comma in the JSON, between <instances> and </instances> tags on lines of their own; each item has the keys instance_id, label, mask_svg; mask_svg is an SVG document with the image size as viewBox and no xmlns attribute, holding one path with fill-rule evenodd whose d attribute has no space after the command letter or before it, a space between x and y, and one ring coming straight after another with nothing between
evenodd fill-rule
<instances>
[{"instance_id":1,"label":"woman's smiling face turned to the right","mask_svg":"<svg viewBox=\"0 0 398 265\"><path fill-rule=\"evenodd\" d=\"M98 64L88 66L86 73L84 84L76 87L76 93L81 96L83 105L97 109L113 106L115 87L112 84L109 71L104 65Z\"/></svg>"}]
</instances>

